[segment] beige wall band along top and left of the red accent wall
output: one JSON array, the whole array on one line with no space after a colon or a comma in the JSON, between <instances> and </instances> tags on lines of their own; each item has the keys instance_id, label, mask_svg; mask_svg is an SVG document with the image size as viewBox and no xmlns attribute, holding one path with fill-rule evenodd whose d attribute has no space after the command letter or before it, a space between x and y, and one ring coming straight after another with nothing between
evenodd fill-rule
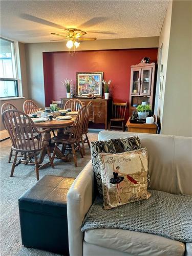
<instances>
[{"instance_id":1,"label":"beige wall band along top and left of the red accent wall","mask_svg":"<svg viewBox=\"0 0 192 256\"><path fill-rule=\"evenodd\" d=\"M159 37L123 38L81 42L79 51L103 49L133 49L158 47ZM45 106L42 52L66 51L66 42L26 44L26 65L29 98L39 107Z\"/></svg>"}]
</instances>

